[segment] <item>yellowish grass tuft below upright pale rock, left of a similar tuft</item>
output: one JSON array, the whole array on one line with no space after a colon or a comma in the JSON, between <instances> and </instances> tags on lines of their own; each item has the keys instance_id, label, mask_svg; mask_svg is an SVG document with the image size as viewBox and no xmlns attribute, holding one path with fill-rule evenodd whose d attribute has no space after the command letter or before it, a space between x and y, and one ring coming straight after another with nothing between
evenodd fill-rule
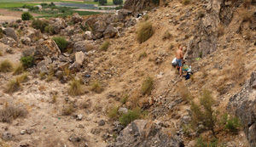
<instances>
[{"instance_id":1,"label":"yellowish grass tuft below upright pale rock, left of a similar tuft","mask_svg":"<svg viewBox=\"0 0 256 147\"><path fill-rule=\"evenodd\" d=\"M83 94L83 88L81 83L77 80L73 80L72 82L70 82L67 93L72 96L78 96Z\"/></svg>"}]
</instances>

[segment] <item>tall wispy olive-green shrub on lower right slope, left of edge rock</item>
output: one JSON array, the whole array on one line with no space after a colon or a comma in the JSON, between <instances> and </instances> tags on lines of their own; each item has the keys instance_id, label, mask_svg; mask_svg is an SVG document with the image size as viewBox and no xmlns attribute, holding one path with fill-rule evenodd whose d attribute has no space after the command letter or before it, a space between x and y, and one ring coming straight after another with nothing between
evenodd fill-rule
<instances>
[{"instance_id":1,"label":"tall wispy olive-green shrub on lower right slope, left of edge rock","mask_svg":"<svg viewBox=\"0 0 256 147\"><path fill-rule=\"evenodd\" d=\"M199 105L195 102L191 104L191 125L196 128L201 124L204 129L212 131L216 138L214 128L218 120L217 111L213 110L213 105L215 105L215 100L212 98L212 93L204 89L199 99Z\"/></svg>"}]
</instances>

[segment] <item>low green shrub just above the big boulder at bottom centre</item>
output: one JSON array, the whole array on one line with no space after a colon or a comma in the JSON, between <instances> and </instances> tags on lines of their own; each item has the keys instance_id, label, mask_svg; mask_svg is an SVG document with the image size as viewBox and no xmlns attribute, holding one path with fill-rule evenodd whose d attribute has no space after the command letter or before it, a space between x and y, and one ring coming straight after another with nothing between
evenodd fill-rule
<instances>
[{"instance_id":1,"label":"low green shrub just above the big boulder at bottom centre","mask_svg":"<svg viewBox=\"0 0 256 147\"><path fill-rule=\"evenodd\" d=\"M119 122L122 125L127 126L132 121L139 119L140 116L141 116L141 109L137 107L136 109L129 110L128 113L120 116Z\"/></svg>"}]
</instances>

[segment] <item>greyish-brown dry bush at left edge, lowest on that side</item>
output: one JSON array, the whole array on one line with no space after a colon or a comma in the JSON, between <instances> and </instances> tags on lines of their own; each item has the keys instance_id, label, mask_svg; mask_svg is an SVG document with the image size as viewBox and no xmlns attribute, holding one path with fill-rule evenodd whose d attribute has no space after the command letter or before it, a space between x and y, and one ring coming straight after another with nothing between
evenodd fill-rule
<instances>
[{"instance_id":1,"label":"greyish-brown dry bush at left edge, lowest on that side","mask_svg":"<svg viewBox=\"0 0 256 147\"><path fill-rule=\"evenodd\" d=\"M0 122L12 122L18 117L25 117L27 115L26 108L20 105L5 105L5 107L0 110Z\"/></svg>"}]
</instances>

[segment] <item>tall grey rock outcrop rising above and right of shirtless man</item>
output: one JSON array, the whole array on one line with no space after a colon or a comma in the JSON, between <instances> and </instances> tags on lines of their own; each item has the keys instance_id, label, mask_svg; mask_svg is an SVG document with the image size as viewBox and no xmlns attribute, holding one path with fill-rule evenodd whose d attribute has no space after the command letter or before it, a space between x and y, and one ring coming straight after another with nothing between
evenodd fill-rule
<instances>
[{"instance_id":1,"label":"tall grey rock outcrop rising above and right of shirtless man","mask_svg":"<svg viewBox=\"0 0 256 147\"><path fill-rule=\"evenodd\" d=\"M207 5L205 17L200 20L195 29L195 37L189 40L188 50L184 59L195 59L212 54L218 46L218 25L223 22L229 25L232 20L230 8L224 6L224 0L210 0Z\"/></svg>"}]
</instances>

